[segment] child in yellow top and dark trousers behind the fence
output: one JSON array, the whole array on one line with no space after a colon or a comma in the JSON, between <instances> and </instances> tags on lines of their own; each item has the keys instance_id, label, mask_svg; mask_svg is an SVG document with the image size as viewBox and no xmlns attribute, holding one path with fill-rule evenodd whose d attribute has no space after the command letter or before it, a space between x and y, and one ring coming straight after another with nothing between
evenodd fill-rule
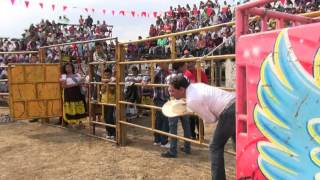
<instances>
[{"instance_id":1,"label":"child in yellow top and dark trousers behind the fence","mask_svg":"<svg viewBox=\"0 0 320 180\"><path fill-rule=\"evenodd\" d=\"M112 69L105 69L102 82L109 83L115 82L115 78L112 77ZM109 88L107 88L109 86ZM115 86L114 85L103 85L101 87L101 102L108 104L116 104L116 96L115 96ZM115 107L114 106L106 106L103 105L103 113L104 113L104 121L106 124L115 124ZM115 128L106 126L106 138L114 139L116 135Z\"/></svg>"}]
</instances>

